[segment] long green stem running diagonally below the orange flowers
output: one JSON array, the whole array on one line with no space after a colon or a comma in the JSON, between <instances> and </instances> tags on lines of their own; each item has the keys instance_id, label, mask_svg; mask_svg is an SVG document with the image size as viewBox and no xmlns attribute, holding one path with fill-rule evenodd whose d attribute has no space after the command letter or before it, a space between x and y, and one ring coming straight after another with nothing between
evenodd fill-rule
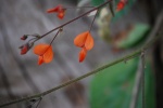
<instances>
[{"instance_id":1,"label":"long green stem running diagonally below the orange flowers","mask_svg":"<svg viewBox=\"0 0 163 108\"><path fill-rule=\"evenodd\" d=\"M20 102L28 100L28 99L32 99L32 98L35 98L35 97L40 97L40 96L48 95L48 94L50 94L50 93L52 93L52 92L54 92L54 91L57 91L57 90L60 90L60 89L62 89L62 87L64 87L64 86L66 86L66 85L70 85L70 84L72 84L72 83L75 83L75 82L77 82L77 81L79 81L79 80L82 80L82 79L84 79L84 78L87 78L87 77L89 77L89 76L91 76L91 75L95 75L95 73L97 73L97 72L100 72L101 70L103 70L103 69L105 69L105 68L109 68L109 67L111 67L111 66L113 66L113 65L115 65L115 64L118 64L118 63L124 62L124 60L126 60L126 59L131 59L131 58L134 58L134 57L140 55L141 52L142 52L142 50L147 50L149 46L151 46L151 45L152 45L158 39L160 39L161 37L162 37L162 35L155 36L154 39L152 39L152 41L149 42L150 44L148 43L148 46L145 45L142 49L139 49L139 50L133 52L131 54L128 54L128 55L126 55L125 57L122 57L122 58L120 58L120 59L117 59L117 60L114 60L114 62L112 62L112 63L110 63L110 64L106 64L106 65L104 65L104 66L102 66L102 67L100 67L100 68L98 68L98 69L96 69L96 70L93 70L93 71L90 71L90 72L88 72L88 73L86 73L86 75L83 75L83 76L80 76L80 77L78 77L78 78L76 78L76 79L70 80L70 81L67 81L67 82L65 82L65 83L63 83L63 84L60 84L60 85L58 85L58 86L55 86L55 87L53 87L53 89L51 89L51 90L48 90L48 91L46 91L46 92L38 93L38 94L32 95L32 96L28 96L28 97L24 97L24 98L20 98L20 99L16 99L16 100L12 100L12 102L2 104L2 105L0 105L0 107L4 107L4 106L13 105L13 104L16 104L16 103L20 103Z\"/></svg>"}]
</instances>

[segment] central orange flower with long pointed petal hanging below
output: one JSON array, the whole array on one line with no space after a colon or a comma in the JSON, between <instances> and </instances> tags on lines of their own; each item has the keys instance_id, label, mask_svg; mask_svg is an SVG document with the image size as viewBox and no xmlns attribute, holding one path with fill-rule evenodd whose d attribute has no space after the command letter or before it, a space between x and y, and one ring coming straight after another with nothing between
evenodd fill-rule
<instances>
[{"instance_id":1,"label":"central orange flower with long pointed petal hanging below","mask_svg":"<svg viewBox=\"0 0 163 108\"><path fill-rule=\"evenodd\" d=\"M89 31L85 31L74 39L74 44L82 48L82 51L79 52L79 63L82 63L87 55L87 51L90 51L93 48L93 38Z\"/></svg>"}]
</instances>

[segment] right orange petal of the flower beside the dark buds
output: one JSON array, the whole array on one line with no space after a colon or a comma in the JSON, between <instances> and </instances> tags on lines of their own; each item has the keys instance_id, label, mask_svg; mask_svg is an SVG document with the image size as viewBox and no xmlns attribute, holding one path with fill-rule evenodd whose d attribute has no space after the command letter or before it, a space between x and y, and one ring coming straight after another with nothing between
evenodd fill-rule
<instances>
[{"instance_id":1,"label":"right orange petal of the flower beside the dark buds","mask_svg":"<svg viewBox=\"0 0 163 108\"><path fill-rule=\"evenodd\" d=\"M50 46L43 54L43 62L50 63L52 60L52 58L53 58L53 52L52 52L52 48Z\"/></svg>"}]
</instances>

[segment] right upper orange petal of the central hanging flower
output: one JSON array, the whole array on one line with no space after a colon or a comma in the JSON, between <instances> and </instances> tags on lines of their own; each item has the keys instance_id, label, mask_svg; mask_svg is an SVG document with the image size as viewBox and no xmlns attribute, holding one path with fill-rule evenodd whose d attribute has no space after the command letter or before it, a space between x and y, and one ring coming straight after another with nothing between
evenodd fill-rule
<instances>
[{"instance_id":1,"label":"right upper orange petal of the central hanging flower","mask_svg":"<svg viewBox=\"0 0 163 108\"><path fill-rule=\"evenodd\" d=\"M91 50L93 48L93 38L91 37L90 32L88 32L86 42L85 42L85 48L87 51Z\"/></svg>"}]
</instances>

